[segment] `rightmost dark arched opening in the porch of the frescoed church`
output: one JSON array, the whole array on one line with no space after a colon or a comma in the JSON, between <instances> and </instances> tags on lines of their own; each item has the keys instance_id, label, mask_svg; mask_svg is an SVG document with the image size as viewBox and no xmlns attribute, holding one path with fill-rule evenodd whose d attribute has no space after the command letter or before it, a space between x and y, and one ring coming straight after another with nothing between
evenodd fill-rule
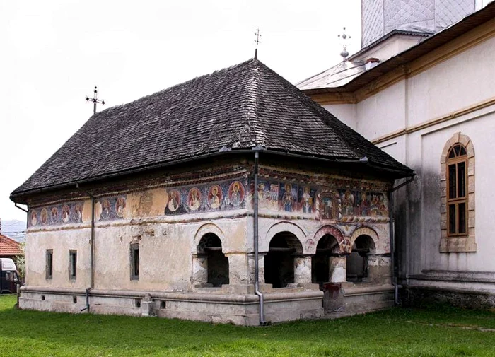
<instances>
[{"instance_id":1,"label":"rightmost dark arched opening in the porch of the frescoed church","mask_svg":"<svg viewBox=\"0 0 495 357\"><path fill-rule=\"evenodd\" d=\"M370 281L368 259L370 254L375 253L375 242L369 235L359 235L354 240L352 252L347 257L347 281L361 283Z\"/></svg>"}]
</instances>

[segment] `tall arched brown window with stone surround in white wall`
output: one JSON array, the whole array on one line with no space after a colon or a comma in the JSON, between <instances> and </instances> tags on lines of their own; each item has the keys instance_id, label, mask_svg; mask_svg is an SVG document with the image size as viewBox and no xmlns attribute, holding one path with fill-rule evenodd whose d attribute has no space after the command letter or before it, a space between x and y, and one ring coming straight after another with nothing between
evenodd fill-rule
<instances>
[{"instance_id":1,"label":"tall arched brown window with stone surround in white wall","mask_svg":"<svg viewBox=\"0 0 495 357\"><path fill-rule=\"evenodd\" d=\"M476 252L474 240L474 148L455 133L441 156L441 252Z\"/></svg>"}]
</instances>

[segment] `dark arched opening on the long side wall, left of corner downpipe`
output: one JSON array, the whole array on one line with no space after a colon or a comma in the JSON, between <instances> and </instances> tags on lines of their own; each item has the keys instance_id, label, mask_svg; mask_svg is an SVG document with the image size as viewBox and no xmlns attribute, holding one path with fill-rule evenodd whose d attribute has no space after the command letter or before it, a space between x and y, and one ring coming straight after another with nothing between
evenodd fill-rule
<instances>
[{"instance_id":1,"label":"dark arched opening on the long side wall, left of corner downpipe","mask_svg":"<svg viewBox=\"0 0 495 357\"><path fill-rule=\"evenodd\" d=\"M216 234L203 235L197 246L197 254L204 258L208 276L206 286L228 284L228 257L222 253L222 242Z\"/></svg>"}]
</instances>

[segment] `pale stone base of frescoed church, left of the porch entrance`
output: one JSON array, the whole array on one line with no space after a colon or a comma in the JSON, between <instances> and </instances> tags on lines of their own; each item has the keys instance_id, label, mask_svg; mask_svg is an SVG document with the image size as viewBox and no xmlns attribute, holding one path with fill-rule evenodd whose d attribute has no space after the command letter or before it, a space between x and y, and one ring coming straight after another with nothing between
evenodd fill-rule
<instances>
[{"instance_id":1,"label":"pale stone base of frescoed church, left of the porch entrance","mask_svg":"<svg viewBox=\"0 0 495 357\"><path fill-rule=\"evenodd\" d=\"M213 288L215 289L215 288ZM245 326L260 324L257 295L224 294L207 288L194 293L164 293L139 291L91 290L86 308L86 291L83 289L52 289L23 286L20 307L71 313L111 315L158 316L228 323ZM266 322L285 322L315 319L324 315L322 291L305 288L273 289L264 294Z\"/></svg>"}]
</instances>

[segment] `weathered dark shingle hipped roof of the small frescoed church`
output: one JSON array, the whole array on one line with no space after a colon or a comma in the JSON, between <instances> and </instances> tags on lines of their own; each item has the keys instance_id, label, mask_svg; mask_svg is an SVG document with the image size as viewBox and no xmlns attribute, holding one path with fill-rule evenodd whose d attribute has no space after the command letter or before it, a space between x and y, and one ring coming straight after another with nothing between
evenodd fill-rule
<instances>
[{"instance_id":1,"label":"weathered dark shingle hipped roof of the small frescoed church","mask_svg":"<svg viewBox=\"0 0 495 357\"><path fill-rule=\"evenodd\" d=\"M366 157L392 177L412 175L296 86L250 59L96 113L11 199L256 146L334 160Z\"/></svg>"}]
</instances>

